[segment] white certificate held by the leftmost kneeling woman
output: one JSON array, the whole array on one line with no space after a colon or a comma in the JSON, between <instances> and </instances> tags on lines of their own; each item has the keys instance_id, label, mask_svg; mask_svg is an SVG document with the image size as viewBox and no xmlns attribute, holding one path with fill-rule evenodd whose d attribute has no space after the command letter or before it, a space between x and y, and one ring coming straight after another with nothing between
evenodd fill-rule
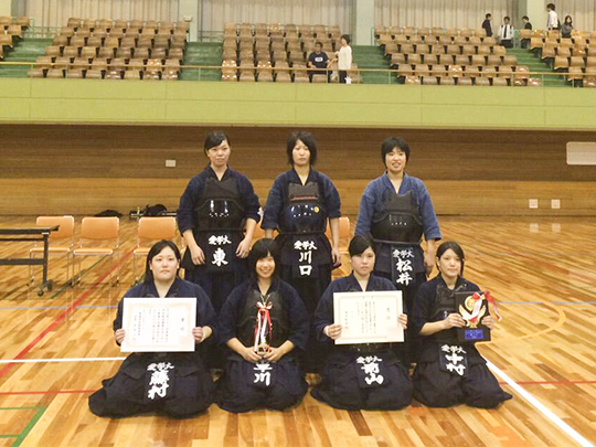
<instances>
[{"instance_id":1,"label":"white certificate held by the leftmost kneeling woman","mask_svg":"<svg viewBox=\"0 0 596 447\"><path fill-rule=\"evenodd\" d=\"M196 298L125 298L121 352L191 352Z\"/></svg>"}]
</instances>

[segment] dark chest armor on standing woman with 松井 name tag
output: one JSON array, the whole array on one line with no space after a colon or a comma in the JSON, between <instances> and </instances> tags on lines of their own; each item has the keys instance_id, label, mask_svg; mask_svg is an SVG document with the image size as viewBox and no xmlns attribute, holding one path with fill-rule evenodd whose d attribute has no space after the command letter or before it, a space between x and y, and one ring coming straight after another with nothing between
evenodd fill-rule
<instances>
[{"instance_id":1,"label":"dark chest armor on standing woman with \u677e\u4e95 name tag","mask_svg":"<svg viewBox=\"0 0 596 447\"><path fill-rule=\"evenodd\" d=\"M373 215L371 234L376 241L419 244L423 223L412 191L392 194Z\"/></svg>"}]
</instances>

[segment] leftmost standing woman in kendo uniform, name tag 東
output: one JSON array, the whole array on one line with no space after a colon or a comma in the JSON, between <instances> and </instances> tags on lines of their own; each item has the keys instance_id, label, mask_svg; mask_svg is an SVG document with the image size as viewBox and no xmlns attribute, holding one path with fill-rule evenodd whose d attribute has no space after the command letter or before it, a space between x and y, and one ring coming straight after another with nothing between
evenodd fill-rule
<instances>
[{"instance_id":1,"label":"leftmost standing woman in kendo uniform, name tag \u6771","mask_svg":"<svg viewBox=\"0 0 596 447\"><path fill-rule=\"evenodd\" d=\"M246 256L259 221L251 181L227 166L230 138L212 131L204 145L210 163L180 198L178 226L187 242L185 279L200 285L215 311L247 277Z\"/></svg>"}]
</instances>

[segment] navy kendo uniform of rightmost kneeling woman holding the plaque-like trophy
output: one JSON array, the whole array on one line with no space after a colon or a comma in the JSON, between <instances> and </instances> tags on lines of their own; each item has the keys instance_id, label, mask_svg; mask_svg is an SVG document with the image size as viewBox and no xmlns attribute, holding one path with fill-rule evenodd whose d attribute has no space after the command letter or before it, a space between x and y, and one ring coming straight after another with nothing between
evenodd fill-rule
<instances>
[{"instance_id":1,"label":"navy kendo uniform of rightmost kneeling woman holding the plaque-like trophy","mask_svg":"<svg viewBox=\"0 0 596 447\"><path fill-rule=\"evenodd\" d=\"M457 279L455 289L450 290L441 276L437 275L418 289L414 301L413 329L419 332L427 322L441 321L449 313L456 312L456 291L479 290L476 284L461 277ZM439 407L465 403L480 408L494 408L501 402L512 398L511 394L499 386L475 343L458 341L455 328L421 336L421 340L422 354L413 375L414 397L418 402ZM454 353L457 358L453 356Z\"/></svg>"}]
</instances>

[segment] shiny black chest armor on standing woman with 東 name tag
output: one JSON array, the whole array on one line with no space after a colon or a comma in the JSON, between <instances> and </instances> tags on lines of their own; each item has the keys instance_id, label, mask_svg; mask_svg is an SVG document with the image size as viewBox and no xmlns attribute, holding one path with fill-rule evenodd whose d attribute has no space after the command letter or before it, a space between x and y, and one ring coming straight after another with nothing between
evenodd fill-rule
<instances>
[{"instance_id":1,"label":"shiny black chest armor on standing woman with \u6771 name tag","mask_svg":"<svg viewBox=\"0 0 596 447\"><path fill-rule=\"evenodd\" d=\"M199 205L194 209L196 230L242 232L245 212L240 199L233 179L217 181L209 178Z\"/></svg>"}]
</instances>

